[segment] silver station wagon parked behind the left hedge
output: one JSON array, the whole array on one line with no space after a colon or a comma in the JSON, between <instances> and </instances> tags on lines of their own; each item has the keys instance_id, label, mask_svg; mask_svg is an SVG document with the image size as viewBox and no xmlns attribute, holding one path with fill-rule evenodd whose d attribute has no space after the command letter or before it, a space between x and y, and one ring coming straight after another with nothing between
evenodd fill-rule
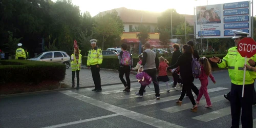
<instances>
[{"instance_id":1,"label":"silver station wagon parked behind the left hedge","mask_svg":"<svg viewBox=\"0 0 256 128\"><path fill-rule=\"evenodd\" d=\"M36 57L28 60L58 62L65 64L67 69L70 67L70 56L66 52L62 51L42 52L38 54Z\"/></svg>"}]
</instances>

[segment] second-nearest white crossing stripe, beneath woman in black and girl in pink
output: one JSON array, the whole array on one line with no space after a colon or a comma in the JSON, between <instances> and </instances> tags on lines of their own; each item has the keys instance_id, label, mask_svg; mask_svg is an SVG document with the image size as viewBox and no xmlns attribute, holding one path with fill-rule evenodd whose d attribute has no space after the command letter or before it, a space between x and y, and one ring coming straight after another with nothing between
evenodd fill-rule
<instances>
[{"instance_id":1,"label":"second-nearest white crossing stripe, beneath woman in black and girl in pink","mask_svg":"<svg viewBox=\"0 0 256 128\"><path fill-rule=\"evenodd\" d=\"M218 102L218 101L221 101L221 100L224 100L223 95L216 96L216 97L210 97L211 103ZM198 106L202 106L202 105L205 105L205 104L206 104L205 99L201 99ZM183 111L183 110L187 110L187 109L191 109L191 108L192 108L192 104L191 104L191 102L189 102L189 103L182 104L181 106L172 106L172 107L161 109L161 110L165 111L165 112L168 112L168 113L175 113L175 112L179 112L179 111Z\"/></svg>"}]
</instances>

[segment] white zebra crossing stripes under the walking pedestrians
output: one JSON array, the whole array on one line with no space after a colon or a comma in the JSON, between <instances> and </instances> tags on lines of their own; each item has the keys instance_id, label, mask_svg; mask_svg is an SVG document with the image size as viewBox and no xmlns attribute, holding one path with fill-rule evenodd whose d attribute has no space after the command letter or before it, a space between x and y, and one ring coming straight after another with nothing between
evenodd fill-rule
<instances>
[{"instance_id":1,"label":"white zebra crossing stripes under the walking pedestrians","mask_svg":"<svg viewBox=\"0 0 256 128\"><path fill-rule=\"evenodd\" d=\"M200 84L195 84L195 86L199 89L199 87L201 86ZM155 95L155 91L153 90L154 89L154 86L152 85L150 90L147 90L143 97L138 97L137 95L135 95L135 92L138 92L140 86L138 86L138 83L137 84L132 84L131 86L131 92L130 93L124 93L121 89L123 88L122 86L120 86L120 84L118 85L115 85L115 86L111 86L111 87L102 87L102 92L100 93L101 95L110 95L113 94L113 98L116 99L116 100L127 100L127 99L142 99L142 100L129 100L129 101L135 101L135 102L132 102L132 103L124 103L124 104L120 104L120 105L117 105L117 107L120 107L120 108L123 108L123 109L133 109L133 108L138 108L138 107L145 107L145 106L148 106L148 105L154 105L154 104L158 104L158 103L163 103L163 102L168 102L168 101L171 101L173 102L174 104L175 103L175 100L179 99L180 97L180 93L174 93L176 90L174 88L171 88L170 91L169 91L169 95L165 95L163 97L160 98L160 100L156 100L154 95ZM165 88L165 83L162 83L162 84L159 84L159 87L160 87L160 94L164 94L164 93L167 93L166 92L166 88ZM147 89L147 88L146 88ZM90 89L87 89L87 91L90 90ZM208 89L208 93L211 94L211 93L214 93L214 94L218 94L218 95L214 95L214 96L210 96L210 100L211 100L211 103L212 103L212 108L215 109L215 105L216 104L219 104L219 103L223 103L223 102L228 102L224 97L223 97L223 93L218 93L218 92L221 92L221 91L226 91L228 92L229 89L228 88L223 88L223 87L216 87L216 88L210 88ZM180 91L179 91L180 92ZM120 95L119 95L120 93ZM172 95L174 94L174 95ZM225 93L224 93L225 94ZM152 99L150 97L150 95L153 95L154 99ZM193 96L195 96L195 94L193 93ZM184 99L188 99L188 97L184 97ZM143 101L143 99L145 99ZM170 102L168 102L170 103ZM203 106L204 108L204 105L206 105L206 101L205 101L205 98L204 96L201 98L200 100L200 103L198 104L198 107L200 106ZM159 105L156 105L155 107L158 107ZM178 105L174 105L174 106L170 106L170 107L164 107L164 108L161 108L159 109L160 111L162 112L165 112L164 114L174 114L174 113L182 113L184 111L190 111L192 107L192 104L191 102L188 102L188 103L184 103L182 104L181 106L178 106ZM255 107L255 106L253 106ZM230 106L225 106L224 108L223 107L218 107L220 109L218 110L215 110L215 111L212 111L212 109L209 109L209 112L207 112L207 109L204 110L203 113L200 113L201 115L198 115L197 113L193 116L193 117L189 117L191 120L197 120L199 122L210 122L212 120L216 120L216 119L222 119L228 115L230 115L230 118L229 118L229 122L226 122L228 124L231 125L231 111L230 111ZM198 111L200 111L201 108L199 108ZM136 109L135 109L136 110ZM187 113L187 112L185 112ZM134 117L135 118L135 117ZM226 117L227 118L227 117ZM256 119L253 120L253 128L256 128ZM168 124L169 125L169 124ZM240 126L242 127L242 126Z\"/></svg>"}]
</instances>

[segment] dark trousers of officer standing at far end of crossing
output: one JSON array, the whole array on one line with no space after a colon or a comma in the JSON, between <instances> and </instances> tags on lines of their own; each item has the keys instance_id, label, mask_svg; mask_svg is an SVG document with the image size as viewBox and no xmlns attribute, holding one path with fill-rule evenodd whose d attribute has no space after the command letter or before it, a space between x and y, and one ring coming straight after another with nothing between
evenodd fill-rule
<instances>
[{"instance_id":1,"label":"dark trousers of officer standing at far end of crossing","mask_svg":"<svg viewBox=\"0 0 256 128\"><path fill-rule=\"evenodd\" d=\"M93 76L93 82L96 90L101 90L101 81L100 81L100 67L97 68L97 65L91 65L91 71Z\"/></svg>"}]
</instances>

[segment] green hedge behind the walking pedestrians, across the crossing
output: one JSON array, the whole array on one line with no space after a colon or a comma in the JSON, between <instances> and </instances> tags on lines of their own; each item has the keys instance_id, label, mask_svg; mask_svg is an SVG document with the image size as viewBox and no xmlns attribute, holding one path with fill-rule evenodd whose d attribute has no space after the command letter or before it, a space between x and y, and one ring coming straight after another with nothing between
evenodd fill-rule
<instances>
[{"instance_id":1,"label":"green hedge behind the walking pedestrians, across the crossing","mask_svg":"<svg viewBox=\"0 0 256 128\"><path fill-rule=\"evenodd\" d=\"M213 55L203 55L205 57L207 57L208 59L212 56L218 56L219 58L223 58L226 54L213 54ZM160 56L158 56L160 57ZM202 56L200 56L202 57ZM167 59L169 61L169 65L172 62L172 57L165 57L165 59ZM133 66L135 67L137 65L137 62L139 61L139 57L138 56L133 56ZM216 68L218 67L216 63L211 62L211 67L212 68ZM83 65L87 65L87 56L86 57L82 57L82 64ZM100 68L103 69L115 69L117 70L119 67L119 60L117 58L117 56L103 56L103 61L101 64Z\"/></svg>"}]
</instances>

